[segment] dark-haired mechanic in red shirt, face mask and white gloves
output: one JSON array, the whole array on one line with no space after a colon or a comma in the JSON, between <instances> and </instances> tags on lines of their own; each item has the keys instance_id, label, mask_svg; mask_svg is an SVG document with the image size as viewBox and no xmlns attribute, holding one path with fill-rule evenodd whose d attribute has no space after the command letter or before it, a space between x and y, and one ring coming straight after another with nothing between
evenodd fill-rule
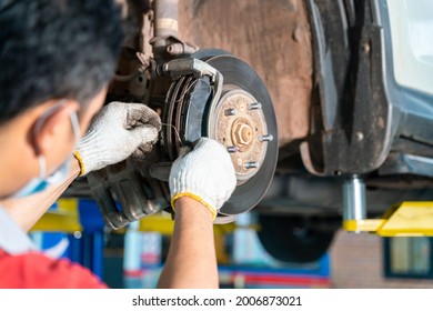
<instances>
[{"instance_id":1,"label":"dark-haired mechanic in red shirt, face mask and white gloves","mask_svg":"<svg viewBox=\"0 0 433 311\"><path fill-rule=\"evenodd\" d=\"M159 116L144 104L102 108L122 42L120 10L107 0L0 0L0 288L105 288L85 268L37 251L26 232L77 177L140 158L158 140ZM216 141L182 150L159 287L218 287L213 220L234 187Z\"/></svg>"}]
</instances>

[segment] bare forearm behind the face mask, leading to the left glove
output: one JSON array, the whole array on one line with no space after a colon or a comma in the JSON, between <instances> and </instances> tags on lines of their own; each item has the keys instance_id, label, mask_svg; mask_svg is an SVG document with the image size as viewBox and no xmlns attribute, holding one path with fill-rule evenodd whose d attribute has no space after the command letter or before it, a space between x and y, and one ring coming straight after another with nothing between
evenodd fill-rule
<instances>
[{"instance_id":1,"label":"bare forearm behind the face mask, leading to the left glove","mask_svg":"<svg viewBox=\"0 0 433 311\"><path fill-rule=\"evenodd\" d=\"M80 167L73 158L68 179L58 187L50 187L46 191L20 199L6 199L0 205L24 231L29 231L47 210L59 199L64 190L78 177Z\"/></svg>"}]
</instances>

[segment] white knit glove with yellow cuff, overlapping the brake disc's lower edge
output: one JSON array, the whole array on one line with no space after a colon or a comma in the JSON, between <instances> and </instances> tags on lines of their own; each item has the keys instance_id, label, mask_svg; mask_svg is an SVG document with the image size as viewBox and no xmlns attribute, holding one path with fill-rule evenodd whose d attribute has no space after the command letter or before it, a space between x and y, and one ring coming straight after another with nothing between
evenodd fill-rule
<instances>
[{"instance_id":1,"label":"white knit glove with yellow cuff, overlapping the brake disc's lower edge","mask_svg":"<svg viewBox=\"0 0 433 311\"><path fill-rule=\"evenodd\" d=\"M225 148L215 140L201 138L194 149L181 150L170 172L171 205L189 197L201 202L216 218L236 187L232 160Z\"/></svg>"}]
</instances>

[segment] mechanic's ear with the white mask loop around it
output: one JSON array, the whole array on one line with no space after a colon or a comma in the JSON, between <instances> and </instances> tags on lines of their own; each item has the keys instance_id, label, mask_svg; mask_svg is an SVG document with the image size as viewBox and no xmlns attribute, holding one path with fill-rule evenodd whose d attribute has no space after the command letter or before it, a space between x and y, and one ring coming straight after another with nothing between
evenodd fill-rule
<instances>
[{"instance_id":1,"label":"mechanic's ear with the white mask loop around it","mask_svg":"<svg viewBox=\"0 0 433 311\"><path fill-rule=\"evenodd\" d=\"M33 143L38 154L49 154L67 146L67 141L74 142L70 114L79 108L77 101L50 101L33 126Z\"/></svg>"}]
</instances>

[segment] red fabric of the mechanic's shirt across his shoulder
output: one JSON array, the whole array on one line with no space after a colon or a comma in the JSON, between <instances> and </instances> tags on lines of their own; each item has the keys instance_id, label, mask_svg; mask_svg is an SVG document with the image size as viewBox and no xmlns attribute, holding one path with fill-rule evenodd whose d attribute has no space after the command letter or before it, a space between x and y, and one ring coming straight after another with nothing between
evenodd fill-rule
<instances>
[{"instance_id":1,"label":"red fabric of the mechanic's shirt across his shoulder","mask_svg":"<svg viewBox=\"0 0 433 311\"><path fill-rule=\"evenodd\" d=\"M0 288L107 289L90 270L67 259L54 260L39 252L11 255L0 250Z\"/></svg>"}]
</instances>

